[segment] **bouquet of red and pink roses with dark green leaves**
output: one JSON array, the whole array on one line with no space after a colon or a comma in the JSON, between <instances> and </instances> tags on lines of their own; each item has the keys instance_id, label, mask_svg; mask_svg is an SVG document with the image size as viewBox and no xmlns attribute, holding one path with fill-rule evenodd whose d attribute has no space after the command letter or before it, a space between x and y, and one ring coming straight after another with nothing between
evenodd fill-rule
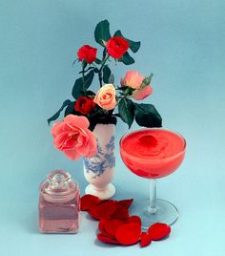
<instances>
[{"instance_id":1,"label":"bouquet of red and pink roses with dark green leaves","mask_svg":"<svg viewBox=\"0 0 225 256\"><path fill-rule=\"evenodd\" d=\"M84 126L85 123L85 129L92 131L97 123L115 124L117 117L126 122L129 128L132 126L134 119L140 126L160 127L162 119L154 106L152 104L137 103L153 93L150 85L153 74L144 76L140 75L137 71L128 71L121 78L120 85L116 86L114 76L109 67L112 58L115 63L133 64L134 59L129 52L136 53L140 48L140 42L134 42L124 37L120 31L114 32L112 36L108 20L97 24L94 30L94 38L103 48L102 57L98 58L98 50L89 45L84 45L78 50L78 58L76 60L81 63L81 71L79 72L80 77L75 80L72 88L73 99L67 99L63 102L61 108L48 119L49 124L51 121L56 120L65 109L64 116L66 118L64 119L64 124L69 121L70 125L68 127L71 127L71 129L74 125L77 126L79 123L82 123ZM73 64L75 64L76 60ZM99 80L99 90L96 93L90 89L94 75L97 75ZM83 117L80 118L80 116ZM88 120L85 121L85 119ZM58 133L60 129L58 129L58 126L59 123L57 123L57 127L54 125L51 130L54 145L66 153L68 144L77 144L74 141L79 136L73 133L73 140L71 137L62 139L62 133L60 133L61 137L59 138ZM80 131L78 128L77 131ZM65 127L61 130L64 131ZM56 140L57 142L55 142ZM66 148L64 148L65 143ZM86 151L81 150L78 155L87 157L92 156L94 153L94 151L92 153L87 153ZM77 152L75 155L70 150L68 152L69 155L66 155L69 158L73 160L78 158Z\"/></svg>"}]
</instances>

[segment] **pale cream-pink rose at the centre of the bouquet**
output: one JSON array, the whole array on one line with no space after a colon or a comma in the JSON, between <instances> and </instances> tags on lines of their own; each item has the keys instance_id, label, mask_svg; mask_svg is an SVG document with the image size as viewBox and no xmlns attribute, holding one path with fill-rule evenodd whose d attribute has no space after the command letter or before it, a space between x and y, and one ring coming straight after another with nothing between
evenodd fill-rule
<instances>
[{"instance_id":1,"label":"pale cream-pink rose at the centre of the bouquet","mask_svg":"<svg viewBox=\"0 0 225 256\"><path fill-rule=\"evenodd\" d=\"M105 84L94 96L93 101L105 110L112 110L116 105L113 84Z\"/></svg>"}]
</instances>

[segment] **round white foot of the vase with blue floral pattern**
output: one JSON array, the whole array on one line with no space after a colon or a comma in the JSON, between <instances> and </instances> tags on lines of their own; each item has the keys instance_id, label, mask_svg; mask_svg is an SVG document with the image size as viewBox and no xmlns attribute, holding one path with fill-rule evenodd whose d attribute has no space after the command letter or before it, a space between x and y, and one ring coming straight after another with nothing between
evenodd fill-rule
<instances>
[{"instance_id":1,"label":"round white foot of the vase with blue floral pattern","mask_svg":"<svg viewBox=\"0 0 225 256\"><path fill-rule=\"evenodd\" d=\"M110 183L106 186L105 189L99 190L97 187L89 184L85 189L85 193L98 197L101 200L107 200L113 197L115 193L115 187L112 183Z\"/></svg>"}]
</instances>

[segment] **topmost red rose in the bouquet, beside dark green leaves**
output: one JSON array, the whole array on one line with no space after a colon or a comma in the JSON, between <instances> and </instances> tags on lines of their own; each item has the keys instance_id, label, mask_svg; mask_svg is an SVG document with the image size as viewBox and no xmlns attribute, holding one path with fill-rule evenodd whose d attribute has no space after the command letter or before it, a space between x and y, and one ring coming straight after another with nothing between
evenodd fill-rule
<instances>
[{"instance_id":1,"label":"topmost red rose in the bouquet, beside dark green leaves","mask_svg":"<svg viewBox=\"0 0 225 256\"><path fill-rule=\"evenodd\" d=\"M114 58L120 58L129 49L129 42L121 36L113 36L106 44L108 53Z\"/></svg>"}]
</instances>

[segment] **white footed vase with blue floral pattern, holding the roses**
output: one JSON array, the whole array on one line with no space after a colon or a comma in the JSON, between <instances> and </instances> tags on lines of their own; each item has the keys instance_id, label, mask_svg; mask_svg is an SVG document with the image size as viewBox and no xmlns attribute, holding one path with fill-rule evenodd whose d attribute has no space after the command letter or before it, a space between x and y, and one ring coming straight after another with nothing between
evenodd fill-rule
<instances>
[{"instance_id":1,"label":"white footed vase with blue floral pattern, holding the roses","mask_svg":"<svg viewBox=\"0 0 225 256\"><path fill-rule=\"evenodd\" d=\"M90 183L86 194L107 200L113 197L115 187L111 183L114 175L114 124L96 124L93 134L97 139L97 154L84 158L84 176Z\"/></svg>"}]
</instances>

